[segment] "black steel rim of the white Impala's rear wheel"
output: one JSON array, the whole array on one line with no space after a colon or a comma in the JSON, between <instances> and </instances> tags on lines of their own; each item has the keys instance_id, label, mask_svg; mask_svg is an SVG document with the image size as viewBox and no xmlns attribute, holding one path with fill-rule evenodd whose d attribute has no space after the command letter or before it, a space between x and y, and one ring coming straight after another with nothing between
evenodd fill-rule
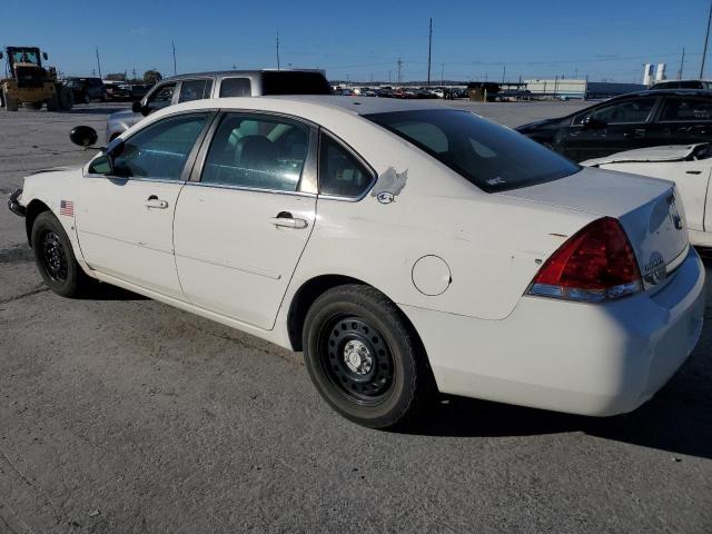
<instances>
[{"instance_id":1,"label":"black steel rim of the white Impala's rear wheel","mask_svg":"<svg viewBox=\"0 0 712 534\"><path fill-rule=\"evenodd\" d=\"M352 402L376 404L390 394L395 375L390 347L360 317L337 316L327 322L319 359L332 385Z\"/></svg>"}]
</instances>

